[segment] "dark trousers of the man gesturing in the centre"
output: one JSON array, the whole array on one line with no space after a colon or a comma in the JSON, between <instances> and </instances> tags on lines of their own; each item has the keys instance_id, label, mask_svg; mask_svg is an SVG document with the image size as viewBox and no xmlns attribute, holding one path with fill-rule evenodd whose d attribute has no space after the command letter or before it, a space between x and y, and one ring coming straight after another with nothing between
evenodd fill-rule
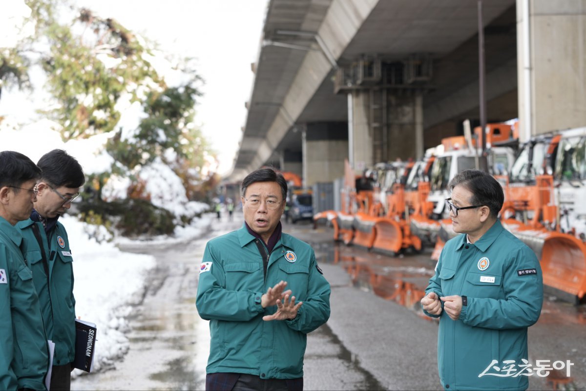
<instances>
[{"instance_id":1,"label":"dark trousers of the man gesturing in the centre","mask_svg":"<svg viewBox=\"0 0 586 391\"><path fill-rule=\"evenodd\" d=\"M246 373L208 373L206 391L303 391L303 378L261 379Z\"/></svg>"}]
</instances>

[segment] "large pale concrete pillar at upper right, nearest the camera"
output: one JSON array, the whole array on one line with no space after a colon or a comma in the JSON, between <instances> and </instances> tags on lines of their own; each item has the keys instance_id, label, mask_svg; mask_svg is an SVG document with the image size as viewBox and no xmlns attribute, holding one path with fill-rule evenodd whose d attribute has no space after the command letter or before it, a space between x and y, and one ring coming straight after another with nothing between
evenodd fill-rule
<instances>
[{"instance_id":1,"label":"large pale concrete pillar at upper right, nearest the camera","mask_svg":"<svg viewBox=\"0 0 586 391\"><path fill-rule=\"evenodd\" d=\"M517 0L520 138L586 125L586 0Z\"/></svg>"}]
</instances>

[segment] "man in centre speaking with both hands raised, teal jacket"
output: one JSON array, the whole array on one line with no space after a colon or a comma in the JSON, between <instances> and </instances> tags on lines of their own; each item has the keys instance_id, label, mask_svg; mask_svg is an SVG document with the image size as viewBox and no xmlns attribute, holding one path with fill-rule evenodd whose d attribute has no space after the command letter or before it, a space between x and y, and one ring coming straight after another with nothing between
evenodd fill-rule
<instances>
[{"instance_id":1,"label":"man in centre speaking with both hands raised, teal jacket","mask_svg":"<svg viewBox=\"0 0 586 391\"><path fill-rule=\"evenodd\" d=\"M330 287L311 246L281 232L283 176L259 169L241 194L244 226L210 240L200 268L206 390L302 389L306 334L328 321Z\"/></svg>"}]
</instances>

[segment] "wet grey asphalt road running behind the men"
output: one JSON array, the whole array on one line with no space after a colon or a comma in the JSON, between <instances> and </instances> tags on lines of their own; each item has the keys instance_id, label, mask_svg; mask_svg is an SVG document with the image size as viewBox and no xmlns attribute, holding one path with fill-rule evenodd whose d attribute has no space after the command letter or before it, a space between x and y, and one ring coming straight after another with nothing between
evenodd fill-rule
<instances>
[{"instance_id":1,"label":"wet grey asphalt road running behind the men","mask_svg":"<svg viewBox=\"0 0 586 391\"><path fill-rule=\"evenodd\" d=\"M127 249L157 260L144 301L131 315L130 351L113 369L74 380L71 389L203 390L209 329L195 307L199 264L207 240L242 221L238 213L234 222L223 217L188 244ZM284 232L312 244L332 285L331 318L308 335L305 389L440 390L437 322L418 305L435 266L430 254L387 257L334 244L331 229L309 223L285 224ZM530 328L530 361L574 362L571 379L558 380L560 389L586 389L585 314L548 301ZM554 389L547 379L531 376L530 389Z\"/></svg>"}]
</instances>

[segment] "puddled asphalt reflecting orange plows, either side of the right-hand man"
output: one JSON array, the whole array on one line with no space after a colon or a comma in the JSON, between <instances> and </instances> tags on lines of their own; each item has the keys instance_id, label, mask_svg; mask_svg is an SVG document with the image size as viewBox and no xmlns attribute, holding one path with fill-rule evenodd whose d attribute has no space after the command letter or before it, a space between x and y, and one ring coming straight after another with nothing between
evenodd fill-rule
<instances>
[{"instance_id":1,"label":"puddled asphalt reflecting orange plows, either side of the right-hand man","mask_svg":"<svg viewBox=\"0 0 586 391\"><path fill-rule=\"evenodd\" d=\"M420 306L424 290L434 274L435 262L430 260L428 254L389 257L339 243L321 243L314 249L319 262L338 264L350 276L355 287L403 305L427 321L437 322L438 319L425 316ZM547 378L533 376L534 389L584 389L581 387L581 376L574 374L574 370L580 373L586 363L580 348L584 325L586 305L574 305L545 294L539 321L536 327L529 330L533 341L540 341L532 346L534 356L530 354L529 361L536 366L538 359L551 359L550 364L556 360L571 359L575 366L572 368L573 376L569 377L565 370L556 368L549 370ZM567 335L575 335L575 344L568 342ZM547 342L550 339L551 342Z\"/></svg>"}]
</instances>

